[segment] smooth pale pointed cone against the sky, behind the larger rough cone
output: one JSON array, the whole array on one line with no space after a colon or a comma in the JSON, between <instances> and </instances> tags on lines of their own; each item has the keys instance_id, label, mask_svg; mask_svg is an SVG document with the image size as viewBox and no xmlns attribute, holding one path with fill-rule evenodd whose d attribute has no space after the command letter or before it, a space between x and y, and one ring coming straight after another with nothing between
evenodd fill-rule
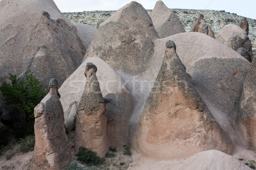
<instances>
[{"instance_id":1,"label":"smooth pale pointed cone against the sky, behind the larger rough cone","mask_svg":"<svg viewBox=\"0 0 256 170\"><path fill-rule=\"evenodd\" d=\"M167 8L161 0L157 1L149 16L160 38L186 32L177 15Z\"/></svg>"}]
</instances>

